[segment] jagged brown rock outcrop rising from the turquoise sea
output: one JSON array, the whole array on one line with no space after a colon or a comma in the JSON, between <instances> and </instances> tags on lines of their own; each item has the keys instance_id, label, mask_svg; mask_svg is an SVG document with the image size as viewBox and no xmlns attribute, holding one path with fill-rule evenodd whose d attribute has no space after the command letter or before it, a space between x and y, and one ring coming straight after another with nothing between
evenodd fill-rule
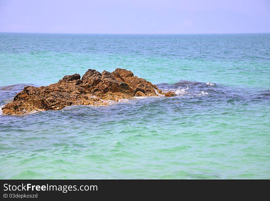
<instances>
[{"instance_id":1,"label":"jagged brown rock outcrop rising from the turquoise sea","mask_svg":"<svg viewBox=\"0 0 270 201\"><path fill-rule=\"evenodd\" d=\"M106 105L107 100L164 95L156 85L134 76L126 69L118 68L112 73L88 69L80 78L79 74L66 75L48 86L25 86L16 94L13 102L2 108L3 114L20 115L33 111L59 110L71 105Z\"/></svg>"}]
</instances>

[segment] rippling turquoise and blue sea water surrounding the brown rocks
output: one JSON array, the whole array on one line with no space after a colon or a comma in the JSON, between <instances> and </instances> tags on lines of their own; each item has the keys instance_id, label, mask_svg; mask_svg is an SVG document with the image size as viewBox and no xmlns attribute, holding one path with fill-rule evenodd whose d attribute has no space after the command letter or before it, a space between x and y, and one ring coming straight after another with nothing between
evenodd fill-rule
<instances>
[{"instance_id":1,"label":"rippling turquoise and blue sea water surrounding the brown rocks","mask_svg":"<svg viewBox=\"0 0 270 201\"><path fill-rule=\"evenodd\" d=\"M0 106L89 68L177 92L0 115L0 179L270 179L269 44L270 34L0 33Z\"/></svg>"}]
</instances>

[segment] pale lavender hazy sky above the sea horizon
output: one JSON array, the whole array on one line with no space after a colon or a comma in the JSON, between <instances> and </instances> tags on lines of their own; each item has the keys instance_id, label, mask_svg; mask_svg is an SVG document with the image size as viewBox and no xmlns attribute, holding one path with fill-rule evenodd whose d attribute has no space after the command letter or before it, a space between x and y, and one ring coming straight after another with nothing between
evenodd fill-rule
<instances>
[{"instance_id":1,"label":"pale lavender hazy sky above the sea horizon","mask_svg":"<svg viewBox=\"0 0 270 201\"><path fill-rule=\"evenodd\" d=\"M0 0L0 32L270 32L270 0Z\"/></svg>"}]
</instances>

